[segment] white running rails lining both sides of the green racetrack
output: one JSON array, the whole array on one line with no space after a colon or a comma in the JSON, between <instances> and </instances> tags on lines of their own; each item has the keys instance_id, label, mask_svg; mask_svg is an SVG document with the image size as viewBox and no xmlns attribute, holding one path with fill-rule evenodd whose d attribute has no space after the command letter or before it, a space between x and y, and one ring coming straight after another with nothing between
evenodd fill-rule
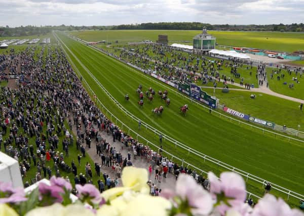
<instances>
[{"instance_id":1,"label":"white running rails lining both sides of the green racetrack","mask_svg":"<svg viewBox=\"0 0 304 216\"><path fill-rule=\"evenodd\" d=\"M57 37L56 37L57 38ZM61 43L66 47L66 45L63 43L63 41L60 39L60 38L58 38L60 41L61 41ZM67 48L67 47L66 47ZM96 49L96 48L94 48L94 47L91 47L92 49ZM64 50L64 49L63 49ZM125 112L125 108L122 106L122 105L120 105L118 102L117 102L117 100L115 99L115 98L113 98L111 95L110 95L110 93L102 86L102 84L96 79L96 77L80 62L80 60L67 48L67 50L71 53L71 55L73 55L73 57L82 65L82 67L89 73L89 75L91 76L91 78L93 78L95 81L96 81L96 83L99 85L99 87L102 89L102 90L105 90L104 92L109 96L109 98L115 103L115 104L117 104L118 105L118 107L119 108L121 108L122 109L122 111L124 111ZM96 49L96 50L98 50L98 49ZM65 50L64 50L65 51ZM98 50L98 51L100 51L100 50ZM69 56L67 55L67 57L69 58ZM110 58L110 57L109 57ZM70 58L69 58L70 59ZM71 61L71 60L70 60ZM71 63L72 63L72 61L71 61ZM72 63L73 64L73 63ZM122 64L122 63L121 63ZM74 66L74 64L73 64L73 66ZM75 67L75 66L74 66ZM127 67L126 65L125 65L125 67ZM75 69L77 69L76 67L75 67ZM78 69L77 69L78 70ZM136 70L134 70L135 72L138 72L138 71L136 71ZM79 75L81 76L81 74L80 74L80 72L78 71L78 73L79 73ZM138 73L140 73L140 72L138 72ZM142 73L141 73L142 74ZM143 74L142 74L143 75ZM146 77L146 78L149 78L149 79L151 79L151 80L153 80L153 81L155 81L156 82L156 80L155 79L153 79L153 78L150 78L150 77ZM86 82L86 80L84 80L85 81L85 84L86 84L86 87L90 90L90 92L93 94L93 95L96 95L94 92L93 92L93 90L91 89L91 87L90 87L90 85ZM159 82L158 82L159 83ZM162 84L162 83L159 83L159 84ZM175 91L174 91L175 92ZM186 99L188 99L188 100L190 100L192 103L197 103L197 104L199 104L199 105L201 105L201 106L203 106L202 104L200 104L200 103L198 103L198 102L196 102L196 101L194 101L194 100L192 100L191 98L188 98L188 97L186 97L186 96L184 96L184 95L182 95L182 94L180 94L180 93L178 93L178 92L175 92L176 94L179 94L179 95L181 95L181 97L184 97L184 98L186 98ZM104 111L106 111L106 115L107 116L110 116L110 118L111 118L111 120L113 121L113 117L115 118L115 121L116 121L116 124L117 124L117 122L119 122L119 123L121 123L122 124L122 129L123 129L123 127L125 126L125 127L127 127L127 129L129 129L129 132L128 133L130 133L130 131L132 132L132 133L134 133L134 134L136 134L136 136L137 136L137 139L138 139L138 137L140 137L141 139L143 139L144 141L146 141L147 142L147 145L148 144L151 144L151 145L153 145L154 147L156 147L157 149L159 149L159 147L157 146L157 145L155 145L155 144L153 144L153 143L151 143L150 141L148 141L148 140L146 140L145 138L143 138L141 135L139 135L139 134L137 134L136 132L134 132L130 127L128 127L126 124L124 124L121 120L119 120L116 116L114 116L109 110L107 110L104 106L103 106L103 104L99 101L99 99L97 99L97 101L98 101L98 105L100 105L101 107L102 107L102 110ZM203 107L205 107L205 106L203 106ZM209 108L207 108L207 107L205 107L206 109L209 109ZM262 131L263 131L263 133L264 132L269 132L269 133L274 133L274 132L271 132L271 131L269 131L269 130L267 130L267 129L264 129L264 128L260 128L260 127L257 127L257 126L254 126L254 125L252 125L252 124L249 124L249 123L246 123L246 122L243 122L243 121L240 121L240 120L238 120L238 119L235 119L235 118L233 118L233 117L230 117L230 116L226 116L226 115L223 115L223 114L221 114L221 113L219 113L219 112L217 112L217 111L213 111L213 112L215 112L215 113L217 113L217 114L219 114L219 116L224 116L224 117L227 117L227 118L230 118L230 120L231 121L237 121L237 122L239 122L239 124L240 123L243 123L243 124L246 124L246 125L248 125L248 126L250 126L250 127L254 127L254 128L258 128L258 129L262 129ZM134 119L134 120L136 120L137 122L138 122L138 118L136 117L136 116L134 116L132 113L130 113L128 110L126 110L126 112L125 112L129 117L131 117L132 119ZM114 122L114 121L113 121ZM141 123L142 123L142 125L143 126L145 126L147 129L149 129L150 131L152 131L152 132L154 132L155 134L163 134L163 133L161 133L160 131L158 131L156 128L154 128L154 127L152 127L152 126L150 126L149 124L146 124L145 122L143 122L143 121L141 121ZM277 134L277 133L274 133L276 136L282 136L282 137L285 137L285 138L287 138L287 139L289 139L289 141L290 141L290 139L292 139L292 140L297 140L297 139L295 139L295 138L290 138L290 137L287 137L287 136L284 136L284 135L281 135L281 134ZM167 136L167 135L163 135L163 138L165 139L165 140L168 140L169 142L171 142L171 143L173 143L174 145L175 145L175 147L176 146L178 146L178 147L180 147L180 148L182 148L182 149L184 149L184 150L186 150L186 151L188 151L188 154L189 153L193 153L193 154L195 154L196 156L199 156L201 159L204 159L204 161L210 161L210 162L212 162L212 163L214 163L214 164L216 164L216 165L218 165L218 166L221 166L222 168L224 168L224 169L227 169L227 170L230 170L230 171L234 171L234 172L237 172L238 174L240 174L240 175L242 175L245 179L246 179L246 182L248 181L248 179L250 179L250 180L252 180L252 181L254 181L254 182L256 182L256 183L259 183L259 184L261 184L262 186L264 186L264 185L266 185L267 183L269 183L269 181L267 181L267 180L264 180L264 179L262 179L262 178L259 178L259 177L257 177L257 176L254 176L254 175L251 175L251 174L249 174L248 172L246 172L246 171L243 171L243 170L241 170L241 169L238 169L238 168L236 168L236 167L234 167L234 166L231 166L231 165L229 165L229 164L226 164L226 163L224 163L224 162L221 162L221 161L219 161L219 160L217 160L217 159L215 159L215 158L212 158L212 157L210 157L210 156L208 156L208 155L205 155L205 154L203 154L203 153L201 153L201 152L199 152L199 151L197 151L197 150L195 150L195 149L192 149L192 148L190 148L190 147L188 147L188 146L186 146L186 145L184 145L184 144L182 144L182 143L180 143L180 142L178 142L178 141L176 141L175 139L173 139L173 138L171 138L171 137L169 137L169 136ZM304 142L304 141L301 141L301 140L297 140L297 141L300 141L300 142ZM164 151L165 152L165 151ZM169 152L166 152L167 154L169 154L171 157L172 157L172 159L173 158L176 158L176 159L178 159L178 160L180 160L181 162L182 162L182 164L187 164L187 166L192 166L192 167L194 167L194 168L196 168L196 169L198 169L198 170L201 170L201 169L199 169L198 167L196 167L196 166L194 166L194 165L192 165L192 164L189 164L189 163L187 163L187 162L185 162L183 159L180 159L180 158L178 158L178 157L176 157L176 156L174 156L174 155L172 155L171 153L169 153ZM203 170L202 170L203 171ZM205 171L203 171L203 172L205 172ZM205 172L206 173L206 172ZM281 187L281 186L279 186L279 185L276 185L276 184L274 184L274 183L271 183L272 184L272 189L275 189L275 190L277 190L277 191L279 191L279 192L281 192L281 193L284 193L284 194L286 194L287 195L287 199L289 199L289 197L291 196L291 197L294 197L294 198L296 198L296 199L304 199L304 196L303 195L301 195L301 194L299 194L299 193L296 193L296 192L294 192L294 191L291 191L291 190L288 190L288 189L286 189L286 188L284 188L284 187Z\"/></svg>"}]
</instances>

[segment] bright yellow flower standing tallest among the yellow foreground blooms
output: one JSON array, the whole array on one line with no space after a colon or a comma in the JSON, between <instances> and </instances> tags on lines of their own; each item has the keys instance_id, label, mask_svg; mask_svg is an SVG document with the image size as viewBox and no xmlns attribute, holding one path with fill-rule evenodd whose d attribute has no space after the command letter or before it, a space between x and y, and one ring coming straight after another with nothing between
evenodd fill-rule
<instances>
[{"instance_id":1,"label":"bright yellow flower standing tallest among the yellow foreground blooms","mask_svg":"<svg viewBox=\"0 0 304 216\"><path fill-rule=\"evenodd\" d=\"M113 200L128 190L148 194L149 187L147 186L147 181L148 172L146 169L127 166L122 172L123 187L106 190L101 194L101 196L105 200Z\"/></svg>"}]
</instances>

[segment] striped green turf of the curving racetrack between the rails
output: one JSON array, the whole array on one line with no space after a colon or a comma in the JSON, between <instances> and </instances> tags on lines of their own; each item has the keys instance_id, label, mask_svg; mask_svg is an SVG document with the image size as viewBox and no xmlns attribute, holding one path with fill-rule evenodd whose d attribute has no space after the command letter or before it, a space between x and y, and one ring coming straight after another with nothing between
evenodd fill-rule
<instances>
[{"instance_id":1,"label":"striped green turf of the curving racetrack between the rails","mask_svg":"<svg viewBox=\"0 0 304 216\"><path fill-rule=\"evenodd\" d=\"M68 53L75 67L82 73L83 78L90 83L97 97L111 112L122 119L128 126L137 131L151 142L158 141L158 135L146 130L138 129L137 122L126 116L101 90L96 81L85 70L87 68L102 83L102 85L126 109L142 121L158 128L164 134L174 137L200 152L216 159L229 163L243 170L272 181L283 187L302 193L304 174L298 165L302 162L304 146L298 143L288 143L282 138L275 139L273 135L262 134L250 127L232 123L226 119L210 114L208 110L196 104L189 104L186 116L179 112L179 106L186 102L185 99L174 93L175 90L166 87L169 92L171 104L165 107L162 116L155 116L151 109L160 106L161 100L156 97L153 103L145 100L143 108L137 105L138 97L135 93L139 84L143 89L153 87L155 90L164 90L163 84L152 81L149 77L112 59L100 52L93 50L79 42L73 41L63 34L58 34L63 41L64 49ZM67 46L67 47L65 47ZM130 101L124 100L124 95L130 94ZM204 163L187 151L174 148L174 145L165 142L163 148L172 154L192 162L205 170L215 172L221 168ZM261 186L250 183L248 190L262 195Z\"/></svg>"}]
</instances>

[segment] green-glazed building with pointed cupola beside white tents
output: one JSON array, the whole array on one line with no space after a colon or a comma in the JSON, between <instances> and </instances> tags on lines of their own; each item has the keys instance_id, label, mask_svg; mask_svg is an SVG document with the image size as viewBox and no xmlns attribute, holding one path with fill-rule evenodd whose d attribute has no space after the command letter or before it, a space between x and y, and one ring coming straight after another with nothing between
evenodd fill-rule
<instances>
[{"instance_id":1,"label":"green-glazed building with pointed cupola beside white tents","mask_svg":"<svg viewBox=\"0 0 304 216\"><path fill-rule=\"evenodd\" d=\"M195 51L210 51L215 48L215 37L207 33L204 27L203 32L193 38L193 49Z\"/></svg>"}]
</instances>

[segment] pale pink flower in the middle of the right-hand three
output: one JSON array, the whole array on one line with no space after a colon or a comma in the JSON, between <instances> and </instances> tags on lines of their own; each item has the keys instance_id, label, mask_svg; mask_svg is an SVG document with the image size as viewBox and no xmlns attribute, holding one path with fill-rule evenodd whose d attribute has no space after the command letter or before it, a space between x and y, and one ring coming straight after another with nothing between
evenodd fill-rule
<instances>
[{"instance_id":1,"label":"pale pink flower in the middle of the right-hand three","mask_svg":"<svg viewBox=\"0 0 304 216\"><path fill-rule=\"evenodd\" d=\"M213 174L208 173L210 192L213 194L224 193L225 197L244 202L247 196L244 179L235 172L222 172L220 180Z\"/></svg>"}]
</instances>

